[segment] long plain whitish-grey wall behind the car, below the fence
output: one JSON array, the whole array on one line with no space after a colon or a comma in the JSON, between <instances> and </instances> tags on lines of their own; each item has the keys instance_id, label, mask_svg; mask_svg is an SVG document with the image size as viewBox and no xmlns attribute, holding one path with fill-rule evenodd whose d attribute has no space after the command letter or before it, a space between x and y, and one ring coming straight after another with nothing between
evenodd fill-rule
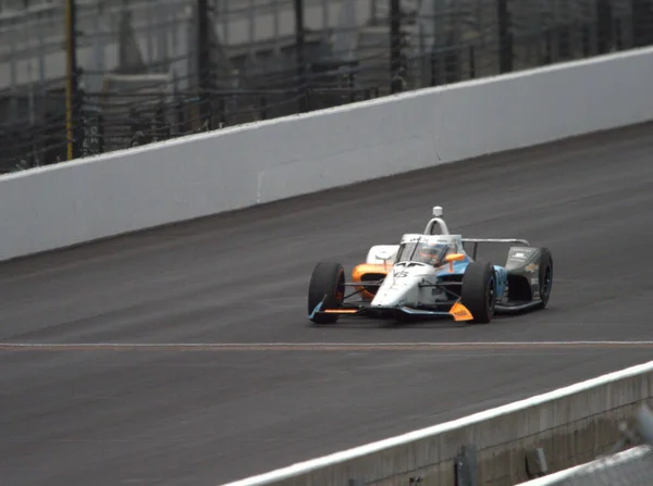
<instances>
[{"instance_id":1,"label":"long plain whitish-grey wall behind the car, below the fence","mask_svg":"<svg viewBox=\"0 0 653 486\"><path fill-rule=\"evenodd\" d=\"M0 177L0 260L653 119L653 49Z\"/></svg>"}]
</instances>

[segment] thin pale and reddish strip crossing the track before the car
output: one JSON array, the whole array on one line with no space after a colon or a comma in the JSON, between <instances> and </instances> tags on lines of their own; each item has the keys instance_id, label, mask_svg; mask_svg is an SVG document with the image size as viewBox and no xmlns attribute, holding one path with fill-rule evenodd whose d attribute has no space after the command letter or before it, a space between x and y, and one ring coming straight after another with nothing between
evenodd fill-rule
<instances>
[{"instance_id":1,"label":"thin pale and reddish strip crossing the track before the car","mask_svg":"<svg viewBox=\"0 0 653 486\"><path fill-rule=\"evenodd\" d=\"M565 348L653 348L651 340L596 341L459 341L459 342L0 342L0 351L375 351L375 350L501 350Z\"/></svg>"}]
</instances>

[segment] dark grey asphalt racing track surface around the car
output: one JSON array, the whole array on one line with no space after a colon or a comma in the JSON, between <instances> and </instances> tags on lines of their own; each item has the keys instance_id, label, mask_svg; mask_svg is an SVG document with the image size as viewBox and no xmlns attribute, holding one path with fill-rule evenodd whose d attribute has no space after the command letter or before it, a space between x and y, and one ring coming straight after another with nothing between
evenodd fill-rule
<instances>
[{"instance_id":1,"label":"dark grey asphalt racing track surface around the car","mask_svg":"<svg viewBox=\"0 0 653 486\"><path fill-rule=\"evenodd\" d=\"M652 154L643 125L0 265L1 344L88 345L0 347L1 483L215 485L651 360L563 342L653 339ZM550 307L307 325L317 261L349 271L434 204L465 236L547 246Z\"/></svg>"}]
</instances>

